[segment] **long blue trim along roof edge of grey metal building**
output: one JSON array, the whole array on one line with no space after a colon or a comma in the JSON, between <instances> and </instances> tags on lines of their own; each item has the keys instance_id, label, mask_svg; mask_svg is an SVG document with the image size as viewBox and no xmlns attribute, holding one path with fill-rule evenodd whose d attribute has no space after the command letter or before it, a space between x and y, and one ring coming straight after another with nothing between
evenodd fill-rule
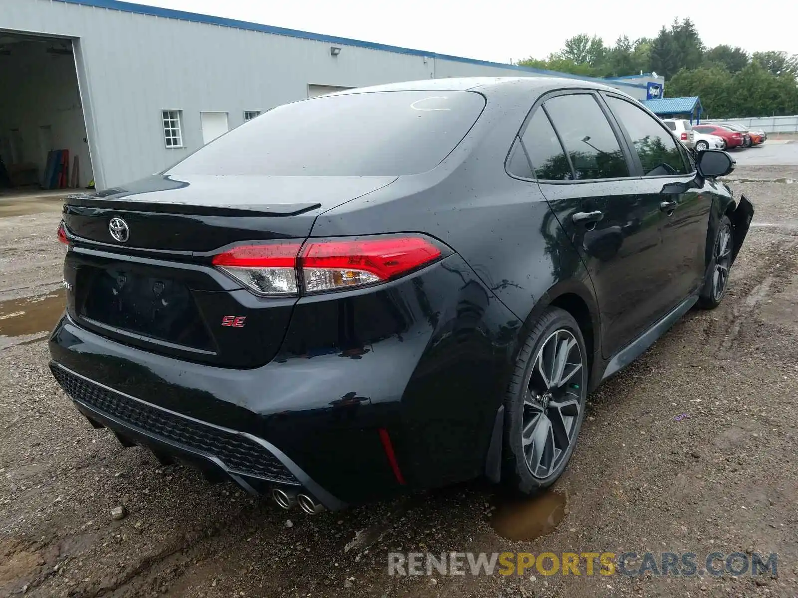
<instances>
[{"instance_id":1,"label":"long blue trim along roof edge of grey metal building","mask_svg":"<svg viewBox=\"0 0 798 598\"><path fill-rule=\"evenodd\" d=\"M261 33L273 33L275 35L286 35L288 37L299 37L301 39L308 39L313 41L325 41L330 44L341 45L354 45L359 48L376 49L384 52L393 52L400 54L410 54L412 56L421 56L429 58L439 58L440 60L465 62L470 65L492 66L501 69L516 70L527 73L539 73L541 75L548 75L550 77L566 77L568 79L578 79L579 81L596 81L599 83L607 84L606 79L599 79L596 77L579 77L579 75L572 75L571 73L558 73L556 71L547 71L543 69L532 69L526 66L519 65L504 65L500 62L480 61L476 58L465 58L461 56L452 56L450 54L439 54L437 52L425 52L424 50L402 48L398 45L378 44L373 41L361 41L350 39L349 37L336 37L334 35L324 35L323 33L310 33L309 31L300 31L294 29L286 29L285 27L275 27L271 25L262 25L260 23L251 23L247 21L238 21L233 18L213 17L208 14L189 13L185 10L173 10L169 8L161 8L160 6L147 6L144 4L134 4L133 2L121 2L120 0L56 0L56 2L65 2L67 4L77 4L81 6L93 6L95 8L107 8L110 10L120 10L126 13L146 14L151 17L175 18L180 21L192 21L198 23L206 23L207 25L216 25L222 27L232 27L233 29L241 29L248 31L259 31ZM646 88L646 85L637 83L622 83L615 82L615 85L624 85L626 87Z\"/></svg>"}]
</instances>

